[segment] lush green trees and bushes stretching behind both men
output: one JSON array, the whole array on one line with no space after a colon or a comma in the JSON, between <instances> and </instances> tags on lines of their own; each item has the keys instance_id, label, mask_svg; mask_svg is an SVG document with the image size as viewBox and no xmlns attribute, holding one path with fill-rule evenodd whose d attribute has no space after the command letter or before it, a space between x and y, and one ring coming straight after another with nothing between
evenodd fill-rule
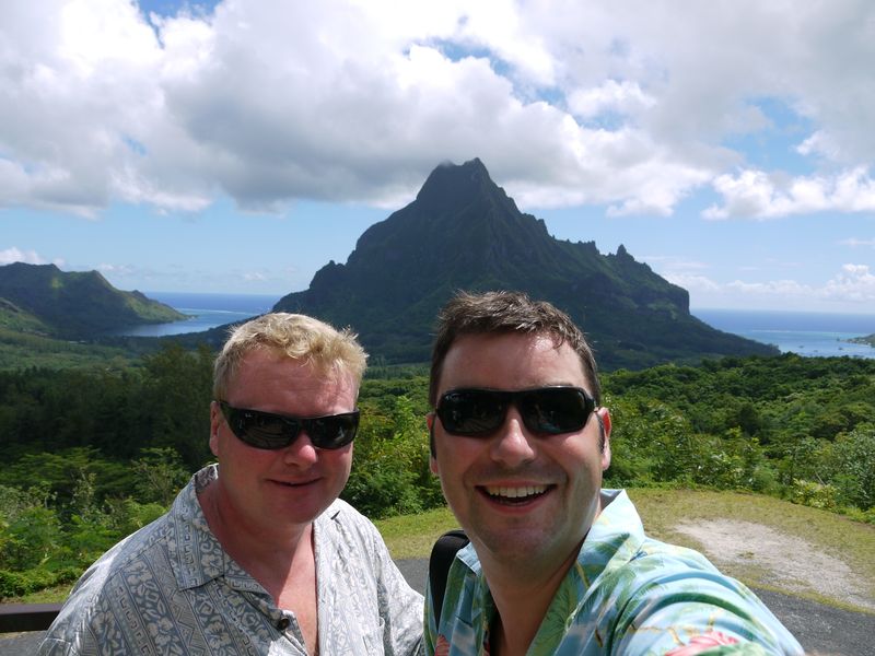
<instances>
[{"instance_id":1,"label":"lush green trees and bushes stretching behind both men","mask_svg":"<svg viewBox=\"0 0 875 656\"><path fill-rule=\"evenodd\" d=\"M0 598L66 584L208 462L212 354L0 372ZM374 518L443 505L421 367L375 367L343 495ZM607 484L756 491L875 523L875 361L727 358L604 376Z\"/></svg>"}]
</instances>

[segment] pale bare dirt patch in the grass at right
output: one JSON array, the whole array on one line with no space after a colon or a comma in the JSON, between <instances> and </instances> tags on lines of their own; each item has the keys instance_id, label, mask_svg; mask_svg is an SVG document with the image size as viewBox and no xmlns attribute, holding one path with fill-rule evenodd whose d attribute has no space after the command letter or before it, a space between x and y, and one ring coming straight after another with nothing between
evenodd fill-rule
<instances>
[{"instance_id":1,"label":"pale bare dirt patch in the grass at right","mask_svg":"<svg viewBox=\"0 0 875 656\"><path fill-rule=\"evenodd\" d=\"M735 519L697 520L675 527L696 540L719 569L790 593L815 593L875 611L871 573L854 573L841 559L771 527ZM792 546L792 551L788 550Z\"/></svg>"}]
</instances>

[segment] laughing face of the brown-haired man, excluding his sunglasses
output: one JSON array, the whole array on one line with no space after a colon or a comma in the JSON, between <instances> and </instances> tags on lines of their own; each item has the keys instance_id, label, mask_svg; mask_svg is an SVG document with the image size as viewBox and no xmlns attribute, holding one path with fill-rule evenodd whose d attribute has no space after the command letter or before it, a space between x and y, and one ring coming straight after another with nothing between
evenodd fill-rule
<instances>
[{"instance_id":1,"label":"laughing face of the brown-haired man, excluding his sunglasses","mask_svg":"<svg viewBox=\"0 0 875 656\"><path fill-rule=\"evenodd\" d=\"M568 344L557 349L542 335L467 335L447 352L438 394L556 385L592 391ZM451 435L440 419L430 418L432 470L481 560L556 566L576 553L599 512L602 472L610 464L610 419L604 408L596 412L605 424L604 450L593 415L576 433L537 435L511 406L503 425L487 437Z\"/></svg>"}]
</instances>

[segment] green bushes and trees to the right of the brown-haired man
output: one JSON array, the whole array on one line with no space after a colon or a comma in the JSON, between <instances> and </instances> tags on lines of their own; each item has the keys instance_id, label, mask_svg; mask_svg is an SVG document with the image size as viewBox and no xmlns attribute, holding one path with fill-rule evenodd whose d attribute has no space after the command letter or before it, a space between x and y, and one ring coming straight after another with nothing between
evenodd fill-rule
<instances>
[{"instance_id":1,"label":"green bushes and trees to the right of the brown-haired man","mask_svg":"<svg viewBox=\"0 0 875 656\"><path fill-rule=\"evenodd\" d=\"M875 361L726 358L605 377L608 479L784 496L875 522Z\"/></svg>"}]
</instances>

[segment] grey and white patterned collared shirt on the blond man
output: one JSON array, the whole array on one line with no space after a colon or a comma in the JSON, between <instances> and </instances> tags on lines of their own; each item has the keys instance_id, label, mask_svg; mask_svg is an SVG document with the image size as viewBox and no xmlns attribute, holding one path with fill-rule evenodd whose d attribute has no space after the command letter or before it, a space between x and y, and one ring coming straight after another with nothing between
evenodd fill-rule
<instances>
[{"instance_id":1,"label":"grey and white patterned collared shirt on the blond man","mask_svg":"<svg viewBox=\"0 0 875 656\"><path fill-rule=\"evenodd\" d=\"M236 564L210 531L197 472L170 512L107 551L83 575L40 655L306 654L293 612ZM318 653L418 654L422 596L407 585L383 539L343 501L313 526Z\"/></svg>"}]
</instances>

